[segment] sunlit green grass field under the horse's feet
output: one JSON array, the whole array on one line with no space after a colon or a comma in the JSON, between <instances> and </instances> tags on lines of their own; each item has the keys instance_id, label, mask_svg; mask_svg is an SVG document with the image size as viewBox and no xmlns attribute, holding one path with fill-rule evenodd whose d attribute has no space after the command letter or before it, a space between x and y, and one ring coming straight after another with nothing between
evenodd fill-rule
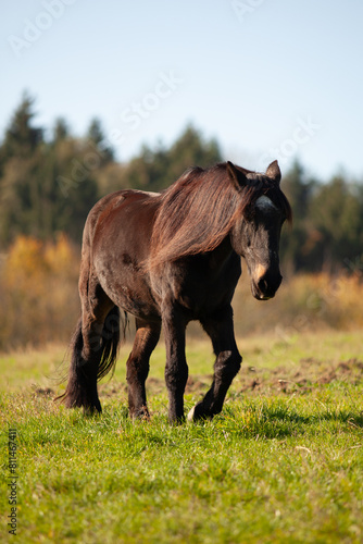
<instances>
[{"instance_id":1,"label":"sunlit green grass field under the horse's feet","mask_svg":"<svg viewBox=\"0 0 363 544\"><path fill-rule=\"evenodd\" d=\"M166 419L162 345L148 380L152 419L136 423L127 346L100 386L103 415L90 419L52 401L63 347L0 357L1 542L363 542L362 332L239 346L242 369L222 415L178 426ZM210 345L189 343L188 361L186 409L211 381Z\"/></svg>"}]
</instances>

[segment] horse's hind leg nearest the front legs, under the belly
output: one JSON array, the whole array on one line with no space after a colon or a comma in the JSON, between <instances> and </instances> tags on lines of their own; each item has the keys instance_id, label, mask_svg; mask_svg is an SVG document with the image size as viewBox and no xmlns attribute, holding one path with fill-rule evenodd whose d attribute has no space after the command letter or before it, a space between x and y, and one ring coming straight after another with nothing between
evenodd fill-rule
<instances>
[{"instance_id":1,"label":"horse's hind leg nearest the front legs, under the belly","mask_svg":"<svg viewBox=\"0 0 363 544\"><path fill-rule=\"evenodd\" d=\"M145 382L150 356L160 337L161 324L136 319L136 337L127 360L128 408L133 419L149 417Z\"/></svg>"}]
</instances>

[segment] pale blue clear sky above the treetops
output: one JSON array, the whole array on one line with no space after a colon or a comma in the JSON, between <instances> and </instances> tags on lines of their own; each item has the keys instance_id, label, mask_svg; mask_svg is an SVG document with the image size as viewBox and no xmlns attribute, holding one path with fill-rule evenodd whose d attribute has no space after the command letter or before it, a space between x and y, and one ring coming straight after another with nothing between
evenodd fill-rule
<instances>
[{"instance_id":1,"label":"pale blue clear sky above the treetops","mask_svg":"<svg viewBox=\"0 0 363 544\"><path fill-rule=\"evenodd\" d=\"M363 181L361 0L1 2L0 134L24 90L35 122L93 118L121 161L191 123L223 158L298 159Z\"/></svg>"}]
</instances>

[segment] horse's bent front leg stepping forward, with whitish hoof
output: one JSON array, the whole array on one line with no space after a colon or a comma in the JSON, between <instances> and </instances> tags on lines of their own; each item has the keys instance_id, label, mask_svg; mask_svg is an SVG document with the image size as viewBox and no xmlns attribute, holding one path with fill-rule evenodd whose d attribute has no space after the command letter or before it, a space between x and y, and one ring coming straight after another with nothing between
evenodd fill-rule
<instances>
[{"instance_id":1,"label":"horse's bent front leg stepping forward, with whitish hoof","mask_svg":"<svg viewBox=\"0 0 363 544\"><path fill-rule=\"evenodd\" d=\"M239 371L242 360L235 341L230 307L213 318L203 320L202 325L212 339L216 355L214 378L204 398L189 411L189 421L212 418L222 411L229 385Z\"/></svg>"}]
</instances>

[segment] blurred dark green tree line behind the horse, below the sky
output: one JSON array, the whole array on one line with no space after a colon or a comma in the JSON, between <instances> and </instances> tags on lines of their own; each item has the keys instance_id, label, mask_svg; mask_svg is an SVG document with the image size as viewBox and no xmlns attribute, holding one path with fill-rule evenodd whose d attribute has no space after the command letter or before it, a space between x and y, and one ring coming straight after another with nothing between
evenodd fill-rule
<instances>
[{"instance_id":1,"label":"blurred dark green tree line behind the horse, below the sky","mask_svg":"<svg viewBox=\"0 0 363 544\"><path fill-rule=\"evenodd\" d=\"M88 211L103 195L162 190L188 166L222 160L218 143L188 125L170 147L143 146L129 161L117 161L98 119L82 137L64 119L51 129L39 126L35 100L24 94L0 143L0 248L21 235L47 240L65 233L78 244ZM293 210L293 226L283 232L284 265L291 272L361 272L363 184L343 173L322 182L296 161L284 173L283 189Z\"/></svg>"}]
</instances>

